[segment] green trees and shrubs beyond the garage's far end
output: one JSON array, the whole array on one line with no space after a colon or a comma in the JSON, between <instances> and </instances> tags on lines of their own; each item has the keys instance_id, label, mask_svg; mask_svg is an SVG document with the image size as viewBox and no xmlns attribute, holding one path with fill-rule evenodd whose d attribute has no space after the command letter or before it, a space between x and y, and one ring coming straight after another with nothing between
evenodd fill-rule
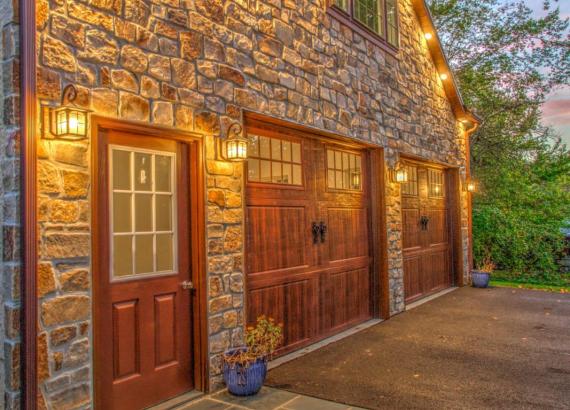
<instances>
[{"instance_id":1,"label":"green trees and shrubs beyond the garage's far end","mask_svg":"<svg viewBox=\"0 0 570 410\"><path fill-rule=\"evenodd\" d=\"M568 19L555 2L542 18L523 1L428 3L465 102L482 118L471 137L475 263L554 280L570 219L570 154L542 126L540 106L570 82Z\"/></svg>"}]
</instances>

